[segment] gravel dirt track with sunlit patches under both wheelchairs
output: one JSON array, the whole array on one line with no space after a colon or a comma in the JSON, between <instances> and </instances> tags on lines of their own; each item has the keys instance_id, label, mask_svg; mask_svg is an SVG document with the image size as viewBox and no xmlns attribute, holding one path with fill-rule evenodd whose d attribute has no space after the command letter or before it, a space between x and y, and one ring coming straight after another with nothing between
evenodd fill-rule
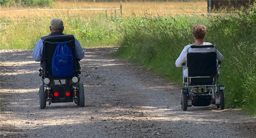
<instances>
[{"instance_id":1,"label":"gravel dirt track with sunlit patches under both wheelchairs","mask_svg":"<svg viewBox=\"0 0 256 138\"><path fill-rule=\"evenodd\" d=\"M0 50L5 138L255 138L256 118L241 110L180 108L180 87L157 74L108 56L116 48L87 48L81 61L85 107L39 108L39 62L32 50Z\"/></svg>"}]
</instances>

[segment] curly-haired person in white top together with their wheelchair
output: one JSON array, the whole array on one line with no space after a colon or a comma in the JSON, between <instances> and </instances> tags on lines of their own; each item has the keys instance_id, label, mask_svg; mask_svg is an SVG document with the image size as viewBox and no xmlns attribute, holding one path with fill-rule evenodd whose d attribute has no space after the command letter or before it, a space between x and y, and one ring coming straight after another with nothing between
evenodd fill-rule
<instances>
[{"instance_id":1,"label":"curly-haired person in white top together with their wheelchair","mask_svg":"<svg viewBox=\"0 0 256 138\"><path fill-rule=\"evenodd\" d=\"M195 43L186 45L176 60L177 67L183 66L183 84L180 104L184 111L187 107L215 104L224 109L224 86L218 86L221 61L224 56L209 42L203 42L207 28L194 25L192 35Z\"/></svg>"}]
</instances>

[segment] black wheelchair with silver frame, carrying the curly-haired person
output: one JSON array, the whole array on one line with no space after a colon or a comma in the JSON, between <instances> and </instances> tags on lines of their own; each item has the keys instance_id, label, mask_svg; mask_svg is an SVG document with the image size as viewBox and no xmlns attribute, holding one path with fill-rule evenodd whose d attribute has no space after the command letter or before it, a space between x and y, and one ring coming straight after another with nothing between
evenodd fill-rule
<instances>
[{"instance_id":1,"label":"black wheelchair with silver frame, carrying the curly-haired person","mask_svg":"<svg viewBox=\"0 0 256 138\"><path fill-rule=\"evenodd\" d=\"M193 48L214 48L215 52L189 52ZM183 63L183 84L180 104L183 111L187 107L209 106L215 104L217 108L225 108L224 85L219 82L219 67L221 62L216 60L214 45L191 45L187 49L187 61ZM187 77L184 77L187 73ZM195 93L195 90L197 91Z\"/></svg>"}]
</instances>

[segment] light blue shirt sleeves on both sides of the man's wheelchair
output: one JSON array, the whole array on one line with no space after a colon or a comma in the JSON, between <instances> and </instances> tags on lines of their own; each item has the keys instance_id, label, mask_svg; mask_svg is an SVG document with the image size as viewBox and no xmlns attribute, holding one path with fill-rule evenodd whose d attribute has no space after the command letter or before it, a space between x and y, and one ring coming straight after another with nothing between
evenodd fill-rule
<instances>
[{"instance_id":1,"label":"light blue shirt sleeves on both sides of the man's wheelchair","mask_svg":"<svg viewBox=\"0 0 256 138\"><path fill-rule=\"evenodd\" d=\"M76 38L75 38L75 45L76 45L76 58L83 59L84 58L84 50ZM35 48L34 48L33 54L32 54L35 61L39 62L39 61L43 60L43 48L44 48L43 41L42 41L42 39L39 39L35 45Z\"/></svg>"}]
</instances>

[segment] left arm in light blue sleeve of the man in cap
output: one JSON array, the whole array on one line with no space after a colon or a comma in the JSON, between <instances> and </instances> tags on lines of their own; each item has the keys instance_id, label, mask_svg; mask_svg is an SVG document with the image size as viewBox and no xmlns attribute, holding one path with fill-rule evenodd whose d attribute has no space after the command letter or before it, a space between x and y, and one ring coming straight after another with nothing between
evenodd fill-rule
<instances>
[{"instance_id":1,"label":"left arm in light blue sleeve of the man in cap","mask_svg":"<svg viewBox=\"0 0 256 138\"><path fill-rule=\"evenodd\" d=\"M38 42L35 45L35 48L33 50L33 58L35 61L42 61L43 60L43 48L44 48L44 44L42 39L39 39Z\"/></svg>"}]
</instances>

